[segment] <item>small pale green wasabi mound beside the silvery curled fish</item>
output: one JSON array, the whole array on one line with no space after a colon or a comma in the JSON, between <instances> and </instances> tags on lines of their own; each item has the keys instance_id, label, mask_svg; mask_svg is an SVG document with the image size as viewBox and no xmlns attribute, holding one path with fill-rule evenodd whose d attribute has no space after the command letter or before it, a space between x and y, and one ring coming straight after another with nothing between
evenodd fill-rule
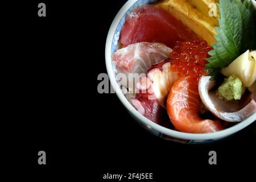
<instances>
[{"instance_id":1,"label":"small pale green wasabi mound beside the silvery curled fish","mask_svg":"<svg viewBox=\"0 0 256 182\"><path fill-rule=\"evenodd\" d=\"M240 100L246 88L236 75L230 75L218 88L218 98L226 101Z\"/></svg>"}]
</instances>

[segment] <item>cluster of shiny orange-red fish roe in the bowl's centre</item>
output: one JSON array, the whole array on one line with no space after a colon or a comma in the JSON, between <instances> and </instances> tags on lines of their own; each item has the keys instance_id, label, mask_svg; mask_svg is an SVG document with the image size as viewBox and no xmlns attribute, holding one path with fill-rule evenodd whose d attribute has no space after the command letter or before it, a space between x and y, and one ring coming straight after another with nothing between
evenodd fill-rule
<instances>
[{"instance_id":1,"label":"cluster of shiny orange-red fish roe in the bowl's centre","mask_svg":"<svg viewBox=\"0 0 256 182\"><path fill-rule=\"evenodd\" d=\"M212 49L204 40L194 40L193 42L177 42L170 57L171 69L179 72L179 76L191 76L199 78L207 75L204 71L205 61L208 52Z\"/></svg>"}]
</instances>

